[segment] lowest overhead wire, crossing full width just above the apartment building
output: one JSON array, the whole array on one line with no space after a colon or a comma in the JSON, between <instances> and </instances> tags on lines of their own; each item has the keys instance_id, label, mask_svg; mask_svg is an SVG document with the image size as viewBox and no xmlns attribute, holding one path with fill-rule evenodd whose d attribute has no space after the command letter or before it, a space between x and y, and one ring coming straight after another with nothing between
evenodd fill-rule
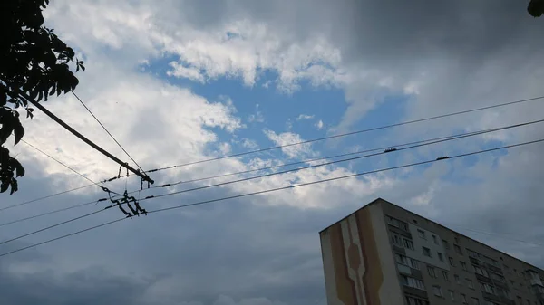
<instances>
[{"instance_id":1,"label":"lowest overhead wire, crossing full width just above the apartment building","mask_svg":"<svg viewBox=\"0 0 544 305\"><path fill-rule=\"evenodd\" d=\"M487 152L491 152L491 151L497 151L497 150L500 150L500 149L516 148L516 147L521 147L521 146L526 146L526 145L536 144L536 143L541 143L541 142L544 142L544 138L541 138L541 139L538 139L538 140L533 140L533 141L522 142L522 143L518 143L518 144L511 144L511 145L502 146L502 147L499 147L499 148L483 149L483 150L474 151L474 152L470 152L470 153L455 155L455 156L452 156L452 157L438 157L438 158L435 158L435 159L432 159L432 160L416 162L416 163L407 164L407 165L403 165L403 166L386 167L386 168L382 168L382 169L376 169L376 170L356 173L356 174L352 174L352 175L338 176L338 177L334 177L334 178L317 180L317 181L302 183L302 184L297 184L297 185L281 186L281 187L267 189L267 190L263 190L263 191L253 192L253 193L232 195L232 196L222 197L222 198L218 198L218 199L199 201L199 202L192 203L192 204L174 205L174 206L160 208L160 209L157 209L157 210L150 211L150 212L148 212L148 214L165 212L165 211L170 211L170 210L174 210L174 209L180 209L180 208L185 208L185 207L195 206L195 205L207 205L207 204L216 203L216 202L219 202L219 201L231 200L231 199L247 197L247 196L251 196L251 195L262 195L262 194L267 194L267 193L277 192L277 191L281 191L281 190L292 189L292 188L301 187L301 186L313 186L313 185L320 184L320 183L332 182L332 181L351 178L351 177L356 177L356 176L371 175L371 174L376 174L376 173L380 173L380 172L384 172L384 171L390 171L390 170L393 170L393 169L400 169L400 168L405 168L405 167L417 167L417 166L422 166L422 165L426 165L426 164L439 162L439 161L442 161L442 160L450 160L450 159L460 158L460 157L469 157L469 156L479 155L479 154L483 154L483 153L487 153ZM165 194L165 195L162 195L162 196L168 196L168 195L175 195L175 194L171 193L171 194ZM155 197L155 198L157 198L157 197ZM97 213L98 213L98 211L97 211ZM3 257L5 255L9 255L9 254L12 254L12 253L18 253L18 252L24 251L26 249L30 249L30 248L33 248L35 246L42 245L44 243L52 243L54 241L58 241L60 239L67 238L67 237L70 237L70 236L73 236L73 235L76 235L76 234L82 234L84 232L91 231L91 230L94 230L94 229L97 229L97 228L100 228L100 227L103 227L103 226L106 226L106 225L109 225L109 224L114 224L114 223L121 222L122 220L125 220L125 219L127 219L127 218L126 217L119 218L119 219L116 219L116 220L113 220L113 221L110 221L110 222L107 222L107 223L94 225L94 226L92 226L90 228L86 228L86 229L83 229L83 230L80 230L80 231L76 231L76 232L73 232L71 234L64 234L62 236L59 236L59 237L56 237L56 238L53 238L53 239L50 239L50 240L46 240L46 241L41 242L41 243L34 243L34 244L31 244L31 245L25 246L23 248L18 248L18 249L15 249L15 250L7 252L7 253L2 253L2 254L0 254L0 257Z\"/></svg>"}]
</instances>

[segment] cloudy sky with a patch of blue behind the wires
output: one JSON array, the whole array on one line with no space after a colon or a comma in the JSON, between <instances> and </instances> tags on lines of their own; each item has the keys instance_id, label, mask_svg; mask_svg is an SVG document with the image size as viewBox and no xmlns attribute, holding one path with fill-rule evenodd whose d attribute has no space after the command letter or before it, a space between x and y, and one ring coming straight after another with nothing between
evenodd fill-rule
<instances>
[{"instance_id":1,"label":"cloudy sky with a patch of blue behind the wires","mask_svg":"<svg viewBox=\"0 0 544 305\"><path fill-rule=\"evenodd\" d=\"M57 0L47 26L86 71L76 93L146 170L543 95L543 20L524 2ZM44 105L123 160L72 95ZM543 119L536 100L151 173L156 185L395 147ZM24 139L84 176L112 160L44 114ZM544 137L530 125L142 201L148 209L351 175ZM2 304L325 304L318 232L382 197L544 268L542 144L134 217L0 257ZM26 175L0 207L88 181L20 143ZM133 165L131 163L131 165ZM134 166L134 165L133 165ZM278 169L277 169L278 170ZM124 173L124 171L123 171ZM169 188L170 194L232 180ZM134 176L107 185L139 190ZM94 202L95 186L0 212L0 224ZM1 240L102 209L5 225ZM121 217L109 209L0 244L0 253ZM520 241L525 241L524 243Z\"/></svg>"}]
</instances>

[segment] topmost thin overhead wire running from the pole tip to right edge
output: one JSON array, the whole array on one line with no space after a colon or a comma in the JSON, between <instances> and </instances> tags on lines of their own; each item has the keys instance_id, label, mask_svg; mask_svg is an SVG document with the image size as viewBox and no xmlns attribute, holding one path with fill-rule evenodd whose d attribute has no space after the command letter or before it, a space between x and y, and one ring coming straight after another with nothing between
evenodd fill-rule
<instances>
[{"instance_id":1,"label":"topmost thin overhead wire running from the pole tip to right edge","mask_svg":"<svg viewBox=\"0 0 544 305\"><path fill-rule=\"evenodd\" d=\"M514 101L509 101L509 102L505 102L505 103L501 103L501 104L485 106L485 107L480 107L480 108L474 108L474 109L471 109L471 110L462 110L462 111L442 114L442 115L438 115L438 116L428 117L428 118L424 118L424 119L407 120L407 121L403 121L401 123L384 125L384 126L380 126L380 127L374 127L374 128L371 128L371 129L362 129L362 130L337 134L337 135L323 137L323 138L313 138L313 139L308 139L308 140L305 140L305 141L290 143L290 144L286 144L286 145L278 145L278 146L270 147L270 148L260 148L260 149L256 149L256 150L249 150L249 151L245 151L245 152L241 152L241 153L237 153L237 154L232 154L232 155L227 155L227 156L223 156L223 157L212 157L212 158L203 159L203 160L199 160L199 161L183 163L183 164L179 164L179 165L175 165L175 166L171 166L171 167L160 167L160 168L156 168L156 169L151 169L151 170L148 170L148 172L151 173L151 172L156 172L156 171L175 168L175 167L187 167L187 166L196 165L196 164L200 164L200 163L221 160L221 159L225 159L225 158L229 158L229 157L241 157L241 156L245 156L245 155L249 155L249 154L255 154L255 153L268 151L268 150L273 150L273 149L278 149L278 148L288 148L288 147L292 147L292 146L296 146L296 145L302 145L302 144L307 144L307 143L312 143L312 142L317 142L317 141L323 141L323 140L331 139L331 138L341 138L341 137L346 137L346 136L352 136L352 135L361 134L361 133L365 133L365 132L369 132L369 131L380 130L380 129L391 129L393 127L409 125L409 124L413 124L413 123L423 122L423 121L426 121L426 120L443 119L443 118L452 117L452 116L456 116L456 115L460 115L460 114L465 114L465 113L470 113L470 112L475 112L475 111L481 111L481 110L490 110L490 109L493 109L493 108L504 107L504 106L519 104L519 103L523 103L523 102L528 102L528 101L531 101L531 100L541 100L541 99L544 99L544 96L539 96L539 97L536 97L536 98L530 98L530 99L525 99L525 100L514 100Z\"/></svg>"}]
</instances>

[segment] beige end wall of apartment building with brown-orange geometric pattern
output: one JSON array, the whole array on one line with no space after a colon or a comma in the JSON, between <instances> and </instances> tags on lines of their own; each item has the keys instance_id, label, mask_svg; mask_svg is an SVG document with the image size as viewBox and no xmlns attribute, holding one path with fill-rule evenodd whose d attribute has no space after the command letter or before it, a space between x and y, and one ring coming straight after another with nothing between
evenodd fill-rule
<instances>
[{"instance_id":1,"label":"beige end wall of apartment building with brown-orange geometric pattern","mask_svg":"<svg viewBox=\"0 0 544 305\"><path fill-rule=\"evenodd\" d=\"M404 303L380 205L367 205L320 237L329 305Z\"/></svg>"}]
</instances>

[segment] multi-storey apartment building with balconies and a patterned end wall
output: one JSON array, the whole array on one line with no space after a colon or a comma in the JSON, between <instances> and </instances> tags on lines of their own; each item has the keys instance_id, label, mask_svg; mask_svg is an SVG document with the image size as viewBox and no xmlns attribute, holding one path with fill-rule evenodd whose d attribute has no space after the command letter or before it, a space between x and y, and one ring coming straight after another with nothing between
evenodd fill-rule
<instances>
[{"instance_id":1,"label":"multi-storey apartment building with balconies and a patterned end wall","mask_svg":"<svg viewBox=\"0 0 544 305\"><path fill-rule=\"evenodd\" d=\"M381 198L320 238L329 305L544 305L544 271Z\"/></svg>"}]
</instances>

